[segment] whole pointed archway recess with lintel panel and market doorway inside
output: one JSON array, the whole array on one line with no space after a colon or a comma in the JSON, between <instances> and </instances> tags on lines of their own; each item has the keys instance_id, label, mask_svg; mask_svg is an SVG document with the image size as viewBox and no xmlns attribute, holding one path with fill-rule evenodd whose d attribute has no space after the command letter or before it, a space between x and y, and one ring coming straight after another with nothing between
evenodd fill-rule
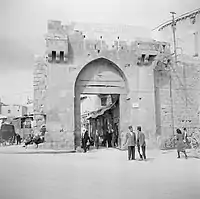
<instances>
[{"instance_id":1,"label":"whole pointed archway recess with lintel panel and market doorway inside","mask_svg":"<svg viewBox=\"0 0 200 199\"><path fill-rule=\"evenodd\" d=\"M81 146L83 128L93 143L98 135L99 145L120 146L121 102L127 95L127 81L120 68L110 60L96 59L80 71L74 89L75 148Z\"/></svg>"}]
</instances>

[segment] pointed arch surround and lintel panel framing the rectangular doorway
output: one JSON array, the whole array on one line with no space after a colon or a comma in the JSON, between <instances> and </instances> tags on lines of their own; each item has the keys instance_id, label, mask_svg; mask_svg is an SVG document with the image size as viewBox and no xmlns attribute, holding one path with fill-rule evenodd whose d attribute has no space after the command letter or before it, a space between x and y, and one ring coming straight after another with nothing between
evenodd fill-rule
<instances>
[{"instance_id":1,"label":"pointed arch surround and lintel panel framing the rectangular doorway","mask_svg":"<svg viewBox=\"0 0 200 199\"><path fill-rule=\"evenodd\" d=\"M75 146L80 145L81 113L80 95L118 94L119 97L119 126L123 123L123 113L126 110L125 100L128 85L123 71L112 61L98 58L85 65L78 74L74 86L74 129ZM119 140L120 142L120 140ZM120 143L119 143L120 144Z\"/></svg>"}]
</instances>

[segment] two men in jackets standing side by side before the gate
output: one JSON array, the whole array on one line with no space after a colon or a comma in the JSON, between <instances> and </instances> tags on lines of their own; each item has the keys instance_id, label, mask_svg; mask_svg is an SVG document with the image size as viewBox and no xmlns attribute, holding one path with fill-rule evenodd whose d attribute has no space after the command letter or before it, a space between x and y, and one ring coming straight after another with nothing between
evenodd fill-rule
<instances>
[{"instance_id":1,"label":"two men in jackets standing side by side before the gate","mask_svg":"<svg viewBox=\"0 0 200 199\"><path fill-rule=\"evenodd\" d=\"M135 160L135 147L137 146L140 160L146 160L146 141L141 126L137 127L137 133L133 126L128 127L128 133L124 146L128 146L128 160ZM141 153L142 150L142 153Z\"/></svg>"}]
</instances>

